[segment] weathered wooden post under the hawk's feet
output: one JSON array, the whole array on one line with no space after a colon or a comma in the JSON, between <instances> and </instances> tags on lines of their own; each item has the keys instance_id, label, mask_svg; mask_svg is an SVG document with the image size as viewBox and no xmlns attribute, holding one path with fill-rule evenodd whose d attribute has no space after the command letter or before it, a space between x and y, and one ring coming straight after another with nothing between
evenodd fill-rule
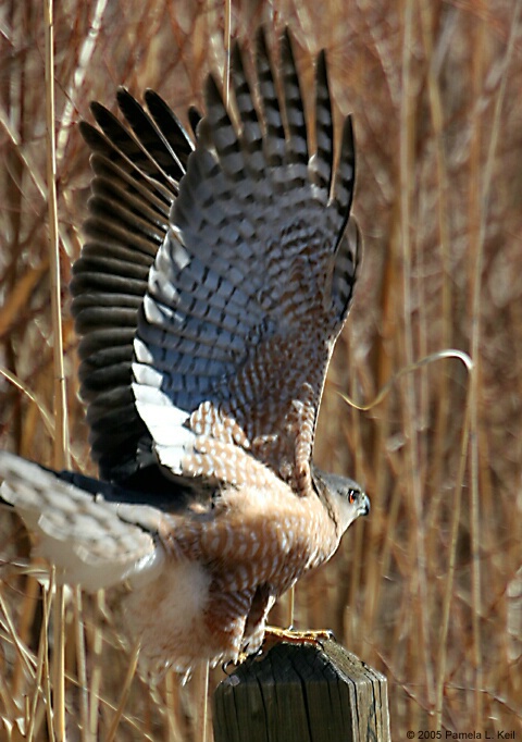
<instances>
[{"instance_id":1,"label":"weathered wooden post under the hawk's feet","mask_svg":"<svg viewBox=\"0 0 522 742\"><path fill-rule=\"evenodd\" d=\"M386 678L335 641L278 643L214 693L215 742L390 742Z\"/></svg>"}]
</instances>

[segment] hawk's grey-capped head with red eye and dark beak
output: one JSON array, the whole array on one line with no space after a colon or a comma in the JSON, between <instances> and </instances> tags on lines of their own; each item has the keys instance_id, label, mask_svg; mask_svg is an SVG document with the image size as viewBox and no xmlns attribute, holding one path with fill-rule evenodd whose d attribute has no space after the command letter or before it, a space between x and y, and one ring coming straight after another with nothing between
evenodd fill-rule
<instances>
[{"instance_id":1,"label":"hawk's grey-capped head with red eye and dark beak","mask_svg":"<svg viewBox=\"0 0 522 742\"><path fill-rule=\"evenodd\" d=\"M359 516L368 516L370 512L369 496L352 479L331 474L312 465L312 480L318 495L328 509L340 534Z\"/></svg>"}]
</instances>

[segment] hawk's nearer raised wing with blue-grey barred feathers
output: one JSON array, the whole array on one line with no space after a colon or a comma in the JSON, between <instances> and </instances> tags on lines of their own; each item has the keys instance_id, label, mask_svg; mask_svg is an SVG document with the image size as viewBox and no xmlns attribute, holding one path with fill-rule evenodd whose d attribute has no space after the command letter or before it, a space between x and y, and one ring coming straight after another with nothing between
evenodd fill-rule
<instances>
[{"instance_id":1,"label":"hawk's nearer raised wing with blue-grey barred feathers","mask_svg":"<svg viewBox=\"0 0 522 742\"><path fill-rule=\"evenodd\" d=\"M304 493L324 376L360 258L360 242L343 237L352 131L345 124L334 174L324 54L311 157L289 36L279 78L263 33L253 84L239 47L232 60L236 115L210 77L139 312L134 393L161 463L175 473L215 475L222 466L210 444L221 450L234 430L245 452ZM169 407L182 412L170 433L159 422Z\"/></svg>"}]
</instances>

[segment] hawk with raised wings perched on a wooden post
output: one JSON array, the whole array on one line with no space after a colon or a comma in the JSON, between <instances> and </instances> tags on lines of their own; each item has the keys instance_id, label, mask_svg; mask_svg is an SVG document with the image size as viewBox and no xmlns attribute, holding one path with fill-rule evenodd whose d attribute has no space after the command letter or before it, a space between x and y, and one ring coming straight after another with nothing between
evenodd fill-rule
<instances>
[{"instance_id":1,"label":"hawk with raised wings perched on a wooden post","mask_svg":"<svg viewBox=\"0 0 522 742\"><path fill-rule=\"evenodd\" d=\"M324 379L361 257L324 52L309 135L288 33L232 54L226 103L184 127L152 90L100 103L86 243L73 268L79 381L100 480L0 458L1 496L60 580L123 585L150 667L260 647L274 601L330 559L369 499L321 471ZM313 144L312 144L313 143ZM335 164L336 163L336 164Z\"/></svg>"}]
</instances>

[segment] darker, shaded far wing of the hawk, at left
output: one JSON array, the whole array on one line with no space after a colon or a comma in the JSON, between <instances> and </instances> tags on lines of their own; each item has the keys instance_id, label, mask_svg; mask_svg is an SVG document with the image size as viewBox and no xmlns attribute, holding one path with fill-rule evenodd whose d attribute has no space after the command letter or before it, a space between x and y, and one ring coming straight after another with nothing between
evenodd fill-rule
<instances>
[{"instance_id":1,"label":"darker, shaded far wing of the hawk, at left","mask_svg":"<svg viewBox=\"0 0 522 742\"><path fill-rule=\"evenodd\" d=\"M82 337L79 381L92 457L104 479L117 481L153 460L132 391L133 343L149 270L194 147L162 99L152 90L145 98L148 112L126 90L117 92L135 136L99 103L91 109L100 128L80 123L95 177L86 242L73 267L72 311Z\"/></svg>"}]
</instances>

